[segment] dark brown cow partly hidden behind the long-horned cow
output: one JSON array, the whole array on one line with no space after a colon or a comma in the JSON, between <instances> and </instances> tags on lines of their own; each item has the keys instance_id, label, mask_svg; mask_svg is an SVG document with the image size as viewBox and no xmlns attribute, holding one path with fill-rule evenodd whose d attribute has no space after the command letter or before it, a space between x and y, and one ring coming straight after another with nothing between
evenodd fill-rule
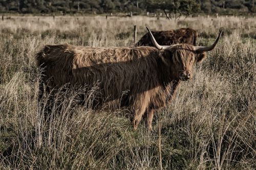
<instances>
[{"instance_id":1,"label":"dark brown cow partly hidden behind the long-horned cow","mask_svg":"<svg viewBox=\"0 0 256 170\"><path fill-rule=\"evenodd\" d=\"M172 44L190 44L196 45L198 37L197 31L190 28L181 28L178 30L169 31L152 31L156 41L161 45L172 45ZM135 46L154 46L151 41L150 33L146 33L143 37L135 44Z\"/></svg>"}]
</instances>

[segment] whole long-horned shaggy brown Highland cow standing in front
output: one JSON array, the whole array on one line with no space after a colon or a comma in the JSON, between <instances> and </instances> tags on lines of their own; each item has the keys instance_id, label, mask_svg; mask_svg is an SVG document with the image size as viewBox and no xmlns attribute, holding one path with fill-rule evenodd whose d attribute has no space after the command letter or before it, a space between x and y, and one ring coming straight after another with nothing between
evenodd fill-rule
<instances>
[{"instance_id":1,"label":"whole long-horned shaggy brown Highland cow standing in front","mask_svg":"<svg viewBox=\"0 0 256 170\"><path fill-rule=\"evenodd\" d=\"M48 89L58 89L66 83L93 87L97 82L99 92L94 96L95 106L126 107L134 115L134 129L145 114L151 129L154 111L166 105L181 81L193 77L193 65L201 62L206 57L205 52L215 47L221 32L207 47L161 46L147 30L155 47L46 45L36 55L37 66L45 69L39 94L44 90L43 83Z\"/></svg>"}]
</instances>

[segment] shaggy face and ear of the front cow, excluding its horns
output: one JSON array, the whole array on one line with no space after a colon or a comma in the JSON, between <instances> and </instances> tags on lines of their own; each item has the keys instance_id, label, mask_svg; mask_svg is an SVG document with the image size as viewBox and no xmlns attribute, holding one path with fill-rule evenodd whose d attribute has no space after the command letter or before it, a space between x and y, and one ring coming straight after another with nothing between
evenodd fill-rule
<instances>
[{"instance_id":1,"label":"shaggy face and ear of the front cow, excluding its horns","mask_svg":"<svg viewBox=\"0 0 256 170\"><path fill-rule=\"evenodd\" d=\"M193 66L201 62L205 53L195 53L193 45L179 44L166 49L169 67L175 79L186 81L193 78Z\"/></svg>"}]
</instances>

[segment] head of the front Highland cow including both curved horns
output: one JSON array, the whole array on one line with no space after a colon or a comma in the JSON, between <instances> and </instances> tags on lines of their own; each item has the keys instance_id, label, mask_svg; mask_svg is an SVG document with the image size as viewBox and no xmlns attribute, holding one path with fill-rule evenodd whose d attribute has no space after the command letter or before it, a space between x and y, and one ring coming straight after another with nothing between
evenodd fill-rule
<instances>
[{"instance_id":1,"label":"head of the front Highland cow including both curved horns","mask_svg":"<svg viewBox=\"0 0 256 170\"><path fill-rule=\"evenodd\" d=\"M152 35L150 29L146 27L147 31L150 33L151 40L154 46L158 50L164 50L164 57L162 60L165 64L170 66L172 71L172 76L179 80L189 80L193 77L192 70L193 65L202 62L206 58L206 52L214 49L215 45L219 41L222 34L220 31L218 38L210 46L194 46L188 44L175 44L175 45L159 45L154 36ZM167 57L166 57L167 56Z\"/></svg>"}]
</instances>

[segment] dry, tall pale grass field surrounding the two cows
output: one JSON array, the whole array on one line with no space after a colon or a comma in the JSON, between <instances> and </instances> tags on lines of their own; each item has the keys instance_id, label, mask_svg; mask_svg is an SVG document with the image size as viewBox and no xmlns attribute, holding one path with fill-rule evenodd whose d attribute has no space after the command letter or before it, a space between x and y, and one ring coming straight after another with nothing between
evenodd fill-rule
<instances>
[{"instance_id":1,"label":"dry, tall pale grass field surrounding the two cows","mask_svg":"<svg viewBox=\"0 0 256 170\"><path fill-rule=\"evenodd\" d=\"M38 19L39 18L39 19ZM224 34L176 100L137 130L122 111L73 106L45 122L34 55L46 44L133 46L151 30L190 27L199 45ZM0 169L255 169L256 19L11 16L0 20ZM46 102L45 102L46 103ZM57 111L56 111L57 112Z\"/></svg>"}]
</instances>

